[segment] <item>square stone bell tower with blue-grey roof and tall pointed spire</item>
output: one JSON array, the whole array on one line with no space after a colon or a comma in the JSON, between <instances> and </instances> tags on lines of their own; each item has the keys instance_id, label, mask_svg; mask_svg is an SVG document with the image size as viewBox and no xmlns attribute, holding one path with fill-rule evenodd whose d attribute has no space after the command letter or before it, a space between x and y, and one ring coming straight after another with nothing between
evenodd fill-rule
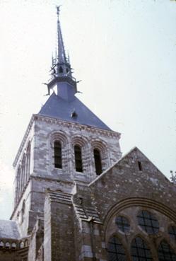
<instances>
[{"instance_id":1,"label":"square stone bell tower with blue-grey roof and tall pointed spire","mask_svg":"<svg viewBox=\"0 0 176 261\"><path fill-rule=\"evenodd\" d=\"M13 167L16 170L15 204L11 219L18 222L21 236L28 236L44 215L48 191L72 195L81 185L98 178L122 153L120 134L112 131L76 97L61 34L57 7L57 55L52 59L49 98L33 114ZM52 91L57 87L57 93Z\"/></svg>"}]
</instances>

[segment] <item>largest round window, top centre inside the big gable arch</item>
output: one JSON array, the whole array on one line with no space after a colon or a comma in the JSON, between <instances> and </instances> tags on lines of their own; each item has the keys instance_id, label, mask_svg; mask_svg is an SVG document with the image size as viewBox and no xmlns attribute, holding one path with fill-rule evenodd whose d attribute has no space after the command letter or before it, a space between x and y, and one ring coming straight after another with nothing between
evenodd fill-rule
<instances>
[{"instance_id":1,"label":"largest round window, top centre inside the big gable arch","mask_svg":"<svg viewBox=\"0 0 176 261\"><path fill-rule=\"evenodd\" d=\"M159 222L156 216L151 212L142 210L137 215L138 224L148 234L156 234L159 232Z\"/></svg>"}]
</instances>

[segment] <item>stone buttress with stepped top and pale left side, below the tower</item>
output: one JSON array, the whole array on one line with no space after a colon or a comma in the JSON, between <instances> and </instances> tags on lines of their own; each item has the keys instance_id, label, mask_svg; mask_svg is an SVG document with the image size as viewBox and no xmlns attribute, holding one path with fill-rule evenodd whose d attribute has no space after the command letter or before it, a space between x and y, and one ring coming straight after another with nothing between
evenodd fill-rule
<instances>
[{"instance_id":1,"label":"stone buttress with stepped top and pale left side, below the tower","mask_svg":"<svg viewBox=\"0 0 176 261\"><path fill-rule=\"evenodd\" d=\"M49 192L48 197L45 202L45 261L75 260L71 195Z\"/></svg>"}]
</instances>

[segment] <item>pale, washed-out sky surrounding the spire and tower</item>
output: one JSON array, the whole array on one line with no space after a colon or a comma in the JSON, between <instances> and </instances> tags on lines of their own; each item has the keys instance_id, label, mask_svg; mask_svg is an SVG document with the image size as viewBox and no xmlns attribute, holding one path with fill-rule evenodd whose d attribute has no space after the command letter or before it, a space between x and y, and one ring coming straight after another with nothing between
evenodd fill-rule
<instances>
[{"instance_id":1,"label":"pale, washed-out sky surrounding the spire and tower","mask_svg":"<svg viewBox=\"0 0 176 261\"><path fill-rule=\"evenodd\" d=\"M78 98L122 133L122 153L138 146L167 177L176 170L175 1L1 0L1 219L12 211L13 159L45 103L56 4Z\"/></svg>"}]
</instances>

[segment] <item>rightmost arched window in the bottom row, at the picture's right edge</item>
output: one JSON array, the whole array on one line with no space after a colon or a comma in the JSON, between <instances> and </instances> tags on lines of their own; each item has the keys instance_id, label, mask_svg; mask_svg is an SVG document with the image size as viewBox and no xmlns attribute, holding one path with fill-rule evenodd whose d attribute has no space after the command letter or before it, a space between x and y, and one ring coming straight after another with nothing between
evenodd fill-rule
<instances>
[{"instance_id":1,"label":"rightmost arched window in the bottom row, at the picture's right edge","mask_svg":"<svg viewBox=\"0 0 176 261\"><path fill-rule=\"evenodd\" d=\"M176 255L170 245L163 240L158 248L158 260L159 261L175 261Z\"/></svg>"}]
</instances>

